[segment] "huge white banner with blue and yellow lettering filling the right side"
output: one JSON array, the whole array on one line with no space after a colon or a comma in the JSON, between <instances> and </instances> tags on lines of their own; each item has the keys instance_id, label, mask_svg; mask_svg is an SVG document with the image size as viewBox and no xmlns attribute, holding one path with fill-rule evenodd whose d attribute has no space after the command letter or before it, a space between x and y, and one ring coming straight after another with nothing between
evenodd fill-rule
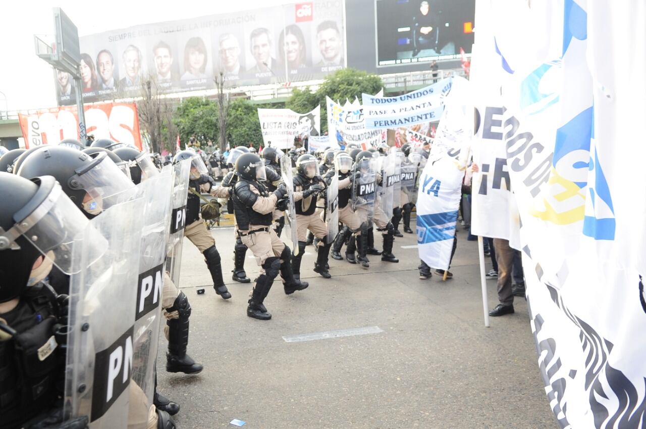
<instances>
[{"instance_id":1,"label":"huge white banner with blue and yellow lettering filling the right side","mask_svg":"<svg viewBox=\"0 0 646 429\"><path fill-rule=\"evenodd\" d=\"M505 210L490 192L492 160L504 156L538 364L561 428L646 427L646 236L634 222L646 211L646 174L626 163L646 155L634 144L646 133L646 88L625 73L646 72L634 54L646 45L643 15L638 1L476 6L476 162L490 167L474 215ZM493 214L477 215L474 232L492 234L482 224L495 222Z\"/></svg>"}]
</instances>

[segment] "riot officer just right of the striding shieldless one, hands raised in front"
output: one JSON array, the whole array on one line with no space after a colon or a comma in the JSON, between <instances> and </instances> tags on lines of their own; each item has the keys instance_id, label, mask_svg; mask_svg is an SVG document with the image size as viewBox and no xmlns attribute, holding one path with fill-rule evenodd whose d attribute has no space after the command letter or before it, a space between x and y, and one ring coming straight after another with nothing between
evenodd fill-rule
<instances>
[{"instance_id":1,"label":"riot officer just right of the striding shieldless one, hands raised in front","mask_svg":"<svg viewBox=\"0 0 646 429\"><path fill-rule=\"evenodd\" d=\"M325 189L325 182L318 175L318 162L313 155L300 155L296 162L297 175L294 181L294 201L296 208L296 225L298 228L298 254L292 256L294 276L300 280L300 261L305 253L307 230L311 231L318 242L317 261L314 271L323 278L330 278L328 254L331 243L327 243L328 227L320 213L317 213L318 193Z\"/></svg>"}]
</instances>

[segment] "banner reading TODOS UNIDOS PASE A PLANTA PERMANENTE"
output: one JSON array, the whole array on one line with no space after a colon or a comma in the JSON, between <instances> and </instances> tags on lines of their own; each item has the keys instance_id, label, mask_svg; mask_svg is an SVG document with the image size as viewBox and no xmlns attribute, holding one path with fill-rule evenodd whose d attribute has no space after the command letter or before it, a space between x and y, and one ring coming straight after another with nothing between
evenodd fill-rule
<instances>
[{"instance_id":1,"label":"banner reading TODOS UNIDOS PASE A PLANTA PERMANENTE","mask_svg":"<svg viewBox=\"0 0 646 429\"><path fill-rule=\"evenodd\" d=\"M439 120L453 78L395 97L362 94L367 129L408 127Z\"/></svg>"}]
</instances>

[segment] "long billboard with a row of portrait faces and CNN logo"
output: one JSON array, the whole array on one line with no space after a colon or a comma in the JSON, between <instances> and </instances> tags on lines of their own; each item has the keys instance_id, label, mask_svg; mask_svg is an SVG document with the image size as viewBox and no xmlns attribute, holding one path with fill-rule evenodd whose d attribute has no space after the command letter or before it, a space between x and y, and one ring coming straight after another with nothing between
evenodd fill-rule
<instances>
[{"instance_id":1,"label":"long billboard with a row of portrait faces and CNN logo","mask_svg":"<svg viewBox=\"0 0 646 429\"><path fill-rule=\"evenodd\" d=\"M80 38L83 100L322 78L346 66L342 0L258 8L123 28ZM57 100L74 103L56 71Z\"/></svg>"}]
</instances>

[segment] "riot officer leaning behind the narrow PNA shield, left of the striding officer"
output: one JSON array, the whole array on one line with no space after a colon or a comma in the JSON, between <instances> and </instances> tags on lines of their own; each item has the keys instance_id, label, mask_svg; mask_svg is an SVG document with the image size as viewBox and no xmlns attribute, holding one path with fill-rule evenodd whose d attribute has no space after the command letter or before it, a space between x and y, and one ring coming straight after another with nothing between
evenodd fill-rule
<instances>
[{"instance_id":1,"label":"riot officer leaning behind the narrow PNA shield, left of the striding officer","mask_svg":"<svg viewBox=\"0 0 646 429\"><path fill-rule=\"evenodd\" d=\"M189 181L189 197L186 202L186 228L184 235L204 255L204 261L211 273L213 289L222 299L231 298L231 293L222 278L222 259L215 246L215 239L207 230L204 221L200 218L200 197L198 193L205 190L209 192L215 181L209 176L204 161L192 151L181 151L175 155L173 162L191 159L191 173ZM193 192L191 192L193 189Z\"/></svg>"}]
</instances>

